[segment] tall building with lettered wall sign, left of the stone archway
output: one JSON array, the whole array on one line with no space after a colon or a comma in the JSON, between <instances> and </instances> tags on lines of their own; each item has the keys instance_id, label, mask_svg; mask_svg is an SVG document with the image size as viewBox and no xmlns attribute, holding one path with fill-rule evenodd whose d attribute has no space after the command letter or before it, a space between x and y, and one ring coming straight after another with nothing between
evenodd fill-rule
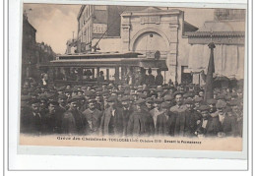
<instances>
[{"instance_id":1,"label":"tall building with lettered wall sign, left of the stone archway","mask_svg":"<svg viewBox=\"0 0 256 176\"><path fill-rule=\"evenodd\" d=\"M120 36L117 6L83 5L77 20L78 52L91 51L94 38Z\"/></svg>"}]
</instances>

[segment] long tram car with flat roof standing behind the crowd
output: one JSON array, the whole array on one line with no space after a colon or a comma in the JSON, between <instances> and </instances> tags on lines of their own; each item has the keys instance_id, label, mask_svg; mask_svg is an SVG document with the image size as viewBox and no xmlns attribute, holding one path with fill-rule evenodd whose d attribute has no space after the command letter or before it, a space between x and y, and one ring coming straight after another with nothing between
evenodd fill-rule
<instances>
[{"instance_id":1,"label":"long tram car with flat roof standing behind the crowd","mask_svg":"<svg viewBox=\"0 0 256 176\"><path fill-rule=\"evenodd\" d=\"M165 83L165 59L148 58L138 52L59 55L49 64L40 65L48 74L51 86L97 85L104 83L133 84L134 76L142 71L160 69Z\"/></svg>"}]
</instances>

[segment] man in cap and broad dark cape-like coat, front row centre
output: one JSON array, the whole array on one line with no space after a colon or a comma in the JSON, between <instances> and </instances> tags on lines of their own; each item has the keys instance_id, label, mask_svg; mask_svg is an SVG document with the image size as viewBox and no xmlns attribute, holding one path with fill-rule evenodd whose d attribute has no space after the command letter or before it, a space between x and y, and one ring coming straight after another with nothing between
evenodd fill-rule
<instances>
[{"instance_id":1,"label":"man in cap and broad dark cape-like coat, front row centre","mask_svg":"<svg viewBox=\"0 0 256 176\"><path fill-rule=\"evenodd\" d=\"M128 121L127 135L133 137L153 136L155 134L154 120L151 114L143 108L145 100L139 99L135 104L136 111L132 113Z\"/></svg>"}]
</instances>

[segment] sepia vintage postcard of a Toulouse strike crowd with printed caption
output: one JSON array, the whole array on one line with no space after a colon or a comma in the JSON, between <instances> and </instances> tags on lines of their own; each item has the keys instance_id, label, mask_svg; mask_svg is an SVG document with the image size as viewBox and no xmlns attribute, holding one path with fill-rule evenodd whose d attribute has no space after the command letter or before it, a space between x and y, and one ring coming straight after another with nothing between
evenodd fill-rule
<instances>
[{"instance_id":1,"label":"sepia vintage postcard of a Toulouse strike crowd with printed caption","mask_svg":"<svg viewBox=\"0 0 256 176\"><path fill-rule=\"evenodd\" d=\"M19 145L244 150L246 13L24 3Z\"/></svg>"}]
</instances>

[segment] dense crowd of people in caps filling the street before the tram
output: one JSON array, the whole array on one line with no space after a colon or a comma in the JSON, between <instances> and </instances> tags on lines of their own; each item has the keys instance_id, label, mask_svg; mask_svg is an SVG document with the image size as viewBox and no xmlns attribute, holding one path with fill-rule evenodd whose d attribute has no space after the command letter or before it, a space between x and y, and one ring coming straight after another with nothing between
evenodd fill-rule
<instances>
[{"instance_id":1,"label":"dense crowd of people in caps filling the street before the tram","mask_svg":"<svg viewBox=\"0 0 256 176\"><path fill-rule=\"evenodd\" d=\"M204 100L204 88L198 85L145 79L141 85L27 84L21 96L21 133L242 137L242 88L215 88L214 97Z\"/></svg>"}]
</instances>

